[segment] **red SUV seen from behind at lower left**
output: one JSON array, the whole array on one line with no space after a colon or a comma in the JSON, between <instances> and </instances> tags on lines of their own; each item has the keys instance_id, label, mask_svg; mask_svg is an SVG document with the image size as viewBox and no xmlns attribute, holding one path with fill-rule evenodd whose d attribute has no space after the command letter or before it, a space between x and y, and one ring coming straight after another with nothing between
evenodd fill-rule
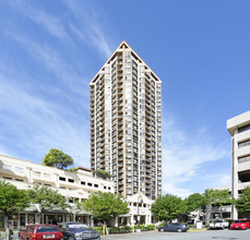
<instances>
[{"instance_id":1,"label":"red SUV seen from behind at lower left","mask_svg":"<svg viewBox=\"0 0 250 240\"><path fill-rule=\"evenodd\" d=\"M62 233L57 225L27 225L26 229L19 232L21 239L24 240L61 240Z\"/></svg>"}]
</instances>

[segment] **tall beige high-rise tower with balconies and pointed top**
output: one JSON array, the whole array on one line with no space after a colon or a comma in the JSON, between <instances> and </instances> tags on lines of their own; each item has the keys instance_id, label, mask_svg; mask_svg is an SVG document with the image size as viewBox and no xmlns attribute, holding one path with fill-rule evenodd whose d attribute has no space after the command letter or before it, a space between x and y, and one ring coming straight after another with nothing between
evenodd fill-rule
<instances>
[{"instance_id":1,"label":"tall beige high-rise tower with balconies and pointed top","mask_svg":"<svg viewBox=\"0 0 250 240\"><path fill-rule=\"evenodd\" d=\"M91 168L115 193L162 194L162 81L122 41L90 83Z\"/></svg>"}]
</instances>

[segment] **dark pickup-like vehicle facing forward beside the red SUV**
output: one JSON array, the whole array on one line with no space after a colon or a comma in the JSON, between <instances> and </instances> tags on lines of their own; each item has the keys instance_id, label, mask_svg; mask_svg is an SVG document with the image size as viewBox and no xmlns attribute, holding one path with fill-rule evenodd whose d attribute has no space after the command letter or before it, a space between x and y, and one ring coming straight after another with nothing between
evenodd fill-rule
<instances>
[{"instance_id":1,"label":"dark pickup-like vehicle facing forward beside the red SUV","mask_svg":"<svg viewBox=\"0 0 250 240\"><path fill-rule=\"evenodd\" d=\"M99 232L85 224L68 221L60 223L58 226L61 229L63 239L67 240L100 239Z\"/></svg>"}]
</instances>

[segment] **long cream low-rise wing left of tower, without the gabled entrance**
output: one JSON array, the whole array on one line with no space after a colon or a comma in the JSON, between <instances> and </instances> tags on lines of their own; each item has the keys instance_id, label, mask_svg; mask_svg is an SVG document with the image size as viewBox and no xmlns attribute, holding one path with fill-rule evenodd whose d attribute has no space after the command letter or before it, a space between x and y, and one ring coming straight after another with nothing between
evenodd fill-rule
<instances>
[{"instance_id":1,"label":"long cream low-rise wing left of tower, without the gabled entrance","mask_svg":"<svg viewBox=\"0 0 250 240\"><path fill-rule=\"evenodd\" d=\"M82 202L90 194L98 193L98 191L114 193L112 181L93 177L90 169L79 168L76 172L70 172L4 155L0 155L0 180L5 180L17 189L24 190L29 189L34 183L46 185L57 190L66 197L66 201L68 199L72 207L76 202ZM72 211L48 209L43 216L39 206L32 204L25 211L10 216L9 224L11 228L19 229L26 224L70 221L74 219ZM88 225L94 224L92 216L83 211L75 213L75 219ZM1 213L0 228L3 228L3 215Z\"/></svg>"}]
</instances>

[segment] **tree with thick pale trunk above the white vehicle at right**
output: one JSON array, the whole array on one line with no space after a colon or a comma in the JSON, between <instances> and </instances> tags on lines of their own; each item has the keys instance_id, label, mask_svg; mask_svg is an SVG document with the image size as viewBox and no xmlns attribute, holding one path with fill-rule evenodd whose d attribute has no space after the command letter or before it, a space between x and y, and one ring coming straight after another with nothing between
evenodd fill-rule
<instances>
[{"instance_id":1,"label":"tree with thick pale trunk above the white vehicle at right","mask_svg":"<svg viewBox=\"0 0 250 240\"><path fill-rule=\"evenodd\" d=\"M206 189L203 195L205 197L206 205L206 224L209 224L211 219L212 205L222 207L224 204L231 204L234 202L228 190Z\"/></svg>"}]
</instances>

